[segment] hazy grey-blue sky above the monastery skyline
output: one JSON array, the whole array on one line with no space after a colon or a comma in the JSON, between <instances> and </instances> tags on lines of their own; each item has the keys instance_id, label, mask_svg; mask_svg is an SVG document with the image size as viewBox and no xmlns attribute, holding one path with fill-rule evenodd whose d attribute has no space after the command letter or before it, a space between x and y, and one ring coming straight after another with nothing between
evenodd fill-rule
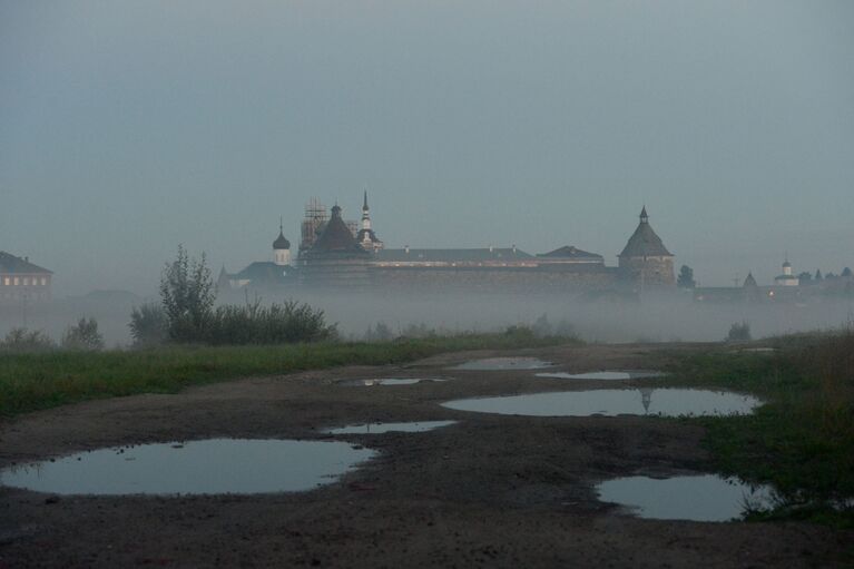
<instances>
[{"instance_id":1,"label":"hazy grey-blue sky above the monastery skyline","mask_svg":"<svg viewBox=\"0 0 854 569\"><path fill-rule=\"evenodd\" d=\"M364 188L391 247L616 264L646 204L701 284L854 266L854 2L0 0L0 249L58 295Z\"/></svg>"}]
</instances>

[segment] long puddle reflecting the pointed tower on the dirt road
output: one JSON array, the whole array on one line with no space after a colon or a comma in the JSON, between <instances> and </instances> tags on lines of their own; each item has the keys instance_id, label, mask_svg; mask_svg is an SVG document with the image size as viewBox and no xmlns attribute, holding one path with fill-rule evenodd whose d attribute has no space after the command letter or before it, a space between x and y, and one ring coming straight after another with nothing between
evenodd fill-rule
<instances>
[{"instance_id":1,"label":"long puddle reflecting the pointed tower on the dirt road","mask_svg":"<svg viewBox=\"0 0 854 569\"><path fill-rule=\"evenodd\" d=\"M589 390L461 399L442 403L459 411L532 416L748 414L762 401L732 392L690 389Z\"/></svg>"}]
</instances>

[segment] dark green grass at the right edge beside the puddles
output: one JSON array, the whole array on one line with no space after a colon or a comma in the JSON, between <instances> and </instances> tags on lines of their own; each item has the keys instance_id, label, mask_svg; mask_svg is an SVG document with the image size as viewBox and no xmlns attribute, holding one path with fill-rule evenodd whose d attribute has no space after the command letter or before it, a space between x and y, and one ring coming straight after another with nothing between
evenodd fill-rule
<instances>
[{"instance_id":1,"label":"dark green grass at the right edge beside the puddles","mask_svg":"<svg viewBox=\"0 0 854 569\"><path fill-rule=\"evenodd\" d=\"M773 484L784 503L753 519L811 519L854 527L854 511L830 507L854 497L854 333L779 339L773 354L724 346L674 355L660 383L750 392L766 401L752 415L697 418L704 445L725 475Z\"/></svg>"}]
</instances>

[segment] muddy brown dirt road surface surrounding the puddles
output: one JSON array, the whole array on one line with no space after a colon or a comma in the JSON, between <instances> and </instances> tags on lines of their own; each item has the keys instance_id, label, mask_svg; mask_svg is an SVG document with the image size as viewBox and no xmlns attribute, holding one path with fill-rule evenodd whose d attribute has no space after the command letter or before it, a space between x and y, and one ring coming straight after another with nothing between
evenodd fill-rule
<instances>
[{"instance_id":1,"label":"muddy brown dirt road surface surrounding the puddles","mask_svg":"<svg viewBox=\"0 0 854 569\"><path fill-rule=\"evenodd\" d=\"M701 346L666 346L697 350ZM661 346L518 352L561 371L655 369ZM452 411L452 399L601 383L534 371L452 371L488 352L404 367L246 379L176 395L69 405L0 424L0 468L102 447L208 438L328 439L363 422L457 420L424 433L336 435L379 458L311 492L53 497L0 487L0 568L19 567L832 567L851 532L806 523L642 520L597 500L616 475L703 471L703 432L642 416ZM500 355L508 355L502 353ZM442 375L354 387L340 381ZM615 385L607 385L615 386Z\"/></svg>"}]
</instances>

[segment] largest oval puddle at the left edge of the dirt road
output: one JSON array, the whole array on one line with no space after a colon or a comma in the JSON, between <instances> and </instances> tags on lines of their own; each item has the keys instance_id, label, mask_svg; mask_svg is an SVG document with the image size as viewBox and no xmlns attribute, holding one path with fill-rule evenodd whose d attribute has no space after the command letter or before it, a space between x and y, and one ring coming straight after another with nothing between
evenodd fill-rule
<instances>
[{"instance_id":1,"label":"largest oval puddle at the left edge of the dirt road","mask_svg":"<svg viewBox=\"0 0 854 569\"><path fill-rule=\"evenodd\" d=\"M19 464L0 471L0 485L104 496L297 492L332 483L374 454L345 442L210 439Z\"/></svg>"}]
</instances>

